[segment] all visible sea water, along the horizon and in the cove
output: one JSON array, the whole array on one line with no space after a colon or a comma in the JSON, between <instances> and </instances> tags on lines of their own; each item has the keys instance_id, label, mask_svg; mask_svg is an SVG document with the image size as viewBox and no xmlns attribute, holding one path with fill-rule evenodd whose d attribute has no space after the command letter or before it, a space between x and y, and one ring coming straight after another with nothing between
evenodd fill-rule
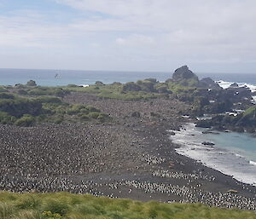
<instances>
[{"instance_id":1,"label":"all visible sea water, along the horizon and in the cove","mask_svg":"<svg viewBox=\"0 0 256 219\"><path fill-rule=\"evenodd\" d=\"M195 72L196 73L196 72ZM256 72L250 73L196 73L199 78L210 77L223 88L232 83L247 86L256 91ZM57 77L55 77L57 76ZM110 71L72 71L72 70L27 70L0 69L0 84L26 84L35 80L42 86L61 86L67 84L88 85L102 81L126 83L144 78L157 78L160 82L172 78L172 72L110 72ZM256 96L254 97L256 102ZM202 134L202 129L195 124L186 124L176 132L172 140L181 147L177 153L194 158L203 164L233 176L240 182L256 186L256 137L246 133ZM214 147L203 146L203 141L212 141Z\"/></svg>"}]
</instances>

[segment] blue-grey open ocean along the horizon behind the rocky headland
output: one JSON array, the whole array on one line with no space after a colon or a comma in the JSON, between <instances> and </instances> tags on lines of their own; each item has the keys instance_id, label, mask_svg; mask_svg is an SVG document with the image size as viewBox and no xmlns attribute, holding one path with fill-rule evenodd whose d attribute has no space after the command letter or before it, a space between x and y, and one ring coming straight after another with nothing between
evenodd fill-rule
<instances>
[{"instance_id":1,"label":"blue-grey open ocean along the horizon behind the rocky headland","mask_svg":"<svg viewBox=\"0 0 256 219\"><path fill-rule=\"evenodd\" d=\"M211 77L213 80L225 82L241 82L256 85L256 72L252 73L203 73L195 72L199 78ZM55 75L58 75L55 78ZM38 69L1 69L0 84L26 84L35 80L42 86L61 86L67 84L104 84L113 82L126 83L144 78L157 78L160 82L172 78L172 72L111 72L111 71L75 71L75 70L38 70Z\"/></svg>"}]
</instances>

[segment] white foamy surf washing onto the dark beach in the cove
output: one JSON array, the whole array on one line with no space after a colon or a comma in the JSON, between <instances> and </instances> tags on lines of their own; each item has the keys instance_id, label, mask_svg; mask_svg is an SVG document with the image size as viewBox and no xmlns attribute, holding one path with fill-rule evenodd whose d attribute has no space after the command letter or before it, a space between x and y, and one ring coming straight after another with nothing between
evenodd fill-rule
<instances>
[{"instance_id":1,"label":"white foamy surf washing onto the dark beach in the cove","mask_svg":"<svg viewBox=\"0 0 256 219\"><path fill-rule=\"evenodd\" d=\"M256 186L256 162L248 162L247 158L238 153L218 147L204 146L206 135L195 127L195 124L186 124L183 130L175 131L171 139L180 145L177 153L193 158L202 164L218 170L236 180Z\"/></svg>"}]
</instances>

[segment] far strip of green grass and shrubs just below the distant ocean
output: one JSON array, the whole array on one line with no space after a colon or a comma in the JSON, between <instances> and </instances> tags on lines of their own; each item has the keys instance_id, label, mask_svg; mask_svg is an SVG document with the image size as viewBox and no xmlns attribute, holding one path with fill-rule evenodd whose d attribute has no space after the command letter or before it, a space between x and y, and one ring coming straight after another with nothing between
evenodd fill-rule
<instances>
[{"instance_id":1,"label":"far strip of green grass and shrubs just below the distant ocean","mask_svg":"<svg viewBox=\"0 0 256 219\"><path fill-rule=\"evenodd\" d=\"M191 84L188 84L190 86ZM4 90L5 88L3 88ZM113 84L93 84L88 87L80 87L74 84L69 84L63 87L43 87L43 86L28 86L26 84L18 84L11 87L20 95L42 96L55 95L63 97L73 92L84 92L95 94L102 98L118 99L125 101L149 100L160 96L166 96L171 93L185 93L195 88L183 86L178 83L159 83L156 79L138 80L136 83L113 83ZM0 88L1 92L1 88ZM3 91L2 91L3 92Z\"/></svg>"}]
</instances>

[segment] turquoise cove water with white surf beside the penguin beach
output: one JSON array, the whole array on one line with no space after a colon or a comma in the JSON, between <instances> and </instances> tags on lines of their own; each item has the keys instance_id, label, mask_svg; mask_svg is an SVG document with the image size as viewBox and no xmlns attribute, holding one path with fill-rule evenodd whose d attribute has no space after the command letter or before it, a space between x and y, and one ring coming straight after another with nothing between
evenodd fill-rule
<instances>
[{"instance_id":1,"label":"turquoise cove water with white surf beside the penguin beach","mask_svg":"<svg viewBox=\"0 0 256 219\"><path fill-rule=\"evenodd\" d=\"M233 176L240 182L256 186L256 138L245 133L202 134L205 129L186 124L171 136L179 144L177 153ZM214 143L204 146L203 141Z\"/></svg>"}]
</instances>

